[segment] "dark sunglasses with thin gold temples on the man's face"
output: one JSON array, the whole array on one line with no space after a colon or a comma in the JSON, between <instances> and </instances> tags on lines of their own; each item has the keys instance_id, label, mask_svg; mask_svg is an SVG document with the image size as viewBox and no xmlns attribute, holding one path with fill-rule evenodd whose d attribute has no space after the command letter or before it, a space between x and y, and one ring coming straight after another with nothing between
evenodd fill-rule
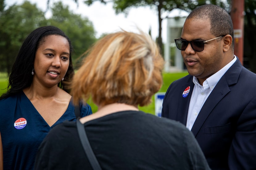
<instances>
[{"instance_id":1,"label":"dark sunglasses with thin gold temples on the man's face","mask_svg":"<svg viewBox=\"0 0 256 170\"><path fill-rule=\"evenodd\" d=\"M224 37L224 36L220 36L220 37ZM202 41L202 40L187 41L187 40L180 39L181 38L180 37L175 39L174 41L179 50L185 50L188 47L188 43L190 43L194 51L200 52L204 50L204 43L215 40L220 37L216 37L207 41Z\"/></svg>"}]
</instances>

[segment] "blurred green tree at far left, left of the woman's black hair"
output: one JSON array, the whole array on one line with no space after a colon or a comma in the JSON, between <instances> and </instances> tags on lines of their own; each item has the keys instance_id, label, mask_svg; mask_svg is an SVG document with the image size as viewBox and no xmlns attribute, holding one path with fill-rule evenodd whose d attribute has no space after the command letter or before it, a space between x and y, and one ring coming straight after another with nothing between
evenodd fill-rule
<instances>
[{"instance_id":1,"label":"blurred green tree at far left, left of the woman's black hair","mask_svg":"<svg viewBox=\"0 0 256 170\"><path fill-rule=\"evenodd\" d=\"M19 48L27 35L45 24L44 13L35 4L25 1L22 5L4 10L1 0L0 13L0 71L10 73Z\"/></svg>"}]
</instances>

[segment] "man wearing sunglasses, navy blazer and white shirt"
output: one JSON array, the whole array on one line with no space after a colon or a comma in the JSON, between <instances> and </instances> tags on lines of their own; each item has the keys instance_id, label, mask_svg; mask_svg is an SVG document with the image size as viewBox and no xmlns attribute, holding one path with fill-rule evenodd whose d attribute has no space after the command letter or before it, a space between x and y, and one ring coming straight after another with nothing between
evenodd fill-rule
<instances>
[{"instance_id":1,"label":"man wearing sunglasses, navy blazer and white shirt","mask_svg":"<svg viewBox=\"0 0 256 170\"><path fill-rule=\"evenodd\" d=\"M162 117L192 131L213 170L256 169L256 74L234 56L229 14L196 8L175 43L189 75L171 83Z\"/></svg>"}]
</instances>

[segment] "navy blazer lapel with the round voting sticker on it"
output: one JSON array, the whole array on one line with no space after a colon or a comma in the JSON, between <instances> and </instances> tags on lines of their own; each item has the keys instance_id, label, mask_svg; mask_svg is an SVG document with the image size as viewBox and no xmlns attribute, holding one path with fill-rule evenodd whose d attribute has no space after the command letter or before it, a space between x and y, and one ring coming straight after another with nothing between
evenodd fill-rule
<instances>
[{"instance_id":1,"label":"navy blazer lapel with the round voting sticker on it","mask_svg":"<svg viewBox=\"0 0 256 170\"><path fill-rule=\"evenodd\" d=\"M187 124L187 117L188 117L188 106L191 99L192 91L194 89L195 84L193 83L193 76L190 76L188 79L188 82L185 83L181 90L179 91L179 97L178 97L178 112L177 112L177 121L181 122L186 126ZM187 87L190 87L190 91L186 97L183 97L183 92Z\"/></svg>"}]
</instances>

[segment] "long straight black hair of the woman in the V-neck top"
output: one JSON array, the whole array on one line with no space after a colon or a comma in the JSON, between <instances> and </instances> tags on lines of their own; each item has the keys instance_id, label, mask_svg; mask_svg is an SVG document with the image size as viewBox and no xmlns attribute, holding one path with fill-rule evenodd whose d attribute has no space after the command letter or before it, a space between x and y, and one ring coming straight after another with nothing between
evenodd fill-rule
<instances>
[{"instance_id":1,"label":"long straight black hair of the woman in the V-neck top","mask_svg":"<svg viewBox=\"0 0 256 170\"><path fill-rule=\"evenodd\" d=\"M33 75L31 72L34 68L35 53L39 46L43 44L45 38L50 35L59 35L68 40L70 49L68 71L64 77L64 81L59 83L58 86L69 92L68 85L74 75L74 68L71 57L73 47L71 41L61 29L55 26L43 26L32 31L23 42L12 66L7 87L8 91L4 93L0 99L7 98L10 95L16 94L31 85L33 80Z\"/></svg>"}]
</instances>

